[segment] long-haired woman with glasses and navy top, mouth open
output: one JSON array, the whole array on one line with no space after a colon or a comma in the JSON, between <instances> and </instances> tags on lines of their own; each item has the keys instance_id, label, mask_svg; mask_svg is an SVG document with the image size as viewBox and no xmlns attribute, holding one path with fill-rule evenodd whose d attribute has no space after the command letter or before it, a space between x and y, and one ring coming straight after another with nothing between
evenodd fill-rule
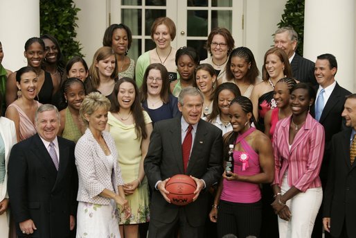
<instances>
[{"instance_id":1,"label":"long-haired woman with glasses and navy top, mouth open","mask_svg":"<svg viewBox=\"0 0 356 238\"><path fill-rule=\"evenodd\" d=\"M168 71L161 64L148 66L141 86L141 103L152 119L152 124L163 119L179 117L178 99L170 94Z\"/></svg>"}]
</instances>

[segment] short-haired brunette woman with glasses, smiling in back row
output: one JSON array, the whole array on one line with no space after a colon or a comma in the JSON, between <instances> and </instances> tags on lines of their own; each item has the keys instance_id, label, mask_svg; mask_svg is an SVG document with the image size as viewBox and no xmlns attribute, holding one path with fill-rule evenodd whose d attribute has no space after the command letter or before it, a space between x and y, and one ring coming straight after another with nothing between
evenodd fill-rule
<instances>
[{"instance_id":1,"label":"short-haired brunette woman with glasses, smiling in back row","mask_svg":"<svg viewBox=\"0 0 356 238\"><path fill-rule=\"evenodd\" d=\"M206 49L208 49L210 57L200 61L200 63L213 66L217 75L217 84L227 82L225 67L229 54L234 47L235 40L233 40L230 31L226 28L217 27L208 35Z\"/></svg>"}]
</instances>

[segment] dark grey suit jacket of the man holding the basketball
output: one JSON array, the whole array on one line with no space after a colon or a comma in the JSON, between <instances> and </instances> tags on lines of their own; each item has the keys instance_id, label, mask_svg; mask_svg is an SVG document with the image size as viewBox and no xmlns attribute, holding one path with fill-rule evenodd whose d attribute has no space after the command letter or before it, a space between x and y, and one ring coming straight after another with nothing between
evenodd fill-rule
<instances>
[{"instance_id":1,"label":"dark grey suit jacket of the man holding the basketball","mask_svg":"<svg viewBox=\"0 0 356 238\"><path fill-rule=\"evenodd\" d=\"M152 188L157 181L184 173L181 153L181 118L158 121L150 138L145 158L145 173ZM208 215L208 190L222 176L222 132L200 119L186 174L202 178L206 188L193 203L184 207L190 226L203 226ZM153 189L151 220L172 223L178 216L178 205L167 203L157 189Z\"/></svg>"}]
</instances>

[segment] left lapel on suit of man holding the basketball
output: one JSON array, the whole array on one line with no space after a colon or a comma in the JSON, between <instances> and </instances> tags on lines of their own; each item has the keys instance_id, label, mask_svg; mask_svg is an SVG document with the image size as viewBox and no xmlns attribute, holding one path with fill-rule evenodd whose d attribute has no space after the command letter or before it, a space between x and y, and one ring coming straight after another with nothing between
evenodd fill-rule
<instances>
[{"instance_id":1,"label":"left lapel on suit of man holding the basketball","mask_svg":"<svg viewBox=\"0 0 356 238\"><path fill-rule=\"evenodd\" d=\"M181 121L180 117L177 118L177 126L175 128L170 128L170 148L172 154L177 162L179 173L184 173L183 169L183 155L181 153Z\"/></svg>"}]
</instances>

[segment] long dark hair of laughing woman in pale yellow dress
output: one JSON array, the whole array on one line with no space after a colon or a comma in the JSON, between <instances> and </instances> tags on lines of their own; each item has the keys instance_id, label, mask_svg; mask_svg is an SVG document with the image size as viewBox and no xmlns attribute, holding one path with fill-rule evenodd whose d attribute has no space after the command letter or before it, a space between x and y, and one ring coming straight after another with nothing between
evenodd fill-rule
<instances>
[{"instance_id":1,"label":"long dark hair of laughing woman in pale yellow dress","mask_svg":"<svg viewBox=\"0 0 356 238\"><path fill-rule=\"evenodd\" d=\"M120 110L120 104L118 103L118 91L120 90L120 85L125 82L134 85L135 90L134 103L132 103L130 109L132 111L132 117L134 117L135 133L137 135L136 139L141 138L141 136L143 139L146 139L148 137L148 133L145 126L145 118L143 117L143 108L141 107L139 89L132 78L123 77L116 83L114 93L110 99L112 102L110 112L118 112Z\"/></svg>"}]
</instances>

